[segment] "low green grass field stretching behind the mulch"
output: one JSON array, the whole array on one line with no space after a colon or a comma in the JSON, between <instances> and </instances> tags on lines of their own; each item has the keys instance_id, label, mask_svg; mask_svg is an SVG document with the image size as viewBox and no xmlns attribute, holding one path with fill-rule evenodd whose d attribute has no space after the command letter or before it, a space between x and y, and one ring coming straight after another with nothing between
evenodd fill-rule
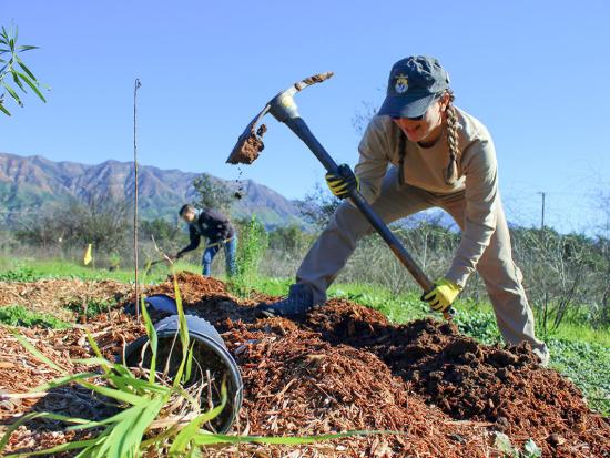
<instances>
[{"instance_id":1,"label":"low green grass field stretching behind the mulch","mask_svg":"<svg viewBox=\"0 0 610 458\"><path fill-rule=\"evenodd\" d=\"M177 263L177 269L199 273L199 265ZM144 276L143 283L159 283L166 278L167 269L156 266ZM0 281L34 282L41 278L114 279L133 282L132 271L108 271L84 267L68 261L35 261L0 258ZM284 295L291 279L258 278L250 285L271 295ZM428 307L419 301L419 293L406 292L396 295L388 289L368 284L337 284L329 291L329 297L344 297L367 305L384 313L393 323L400 324L428 316ZM467 335L486 343L500 342L491 306L487 303L458 301L456 323ZM22 307L4 307L0 322L47 325L61 327L64 324L52 316L35 316ZM583 391L591 407L610 415L610 332L592 329L571 318L561 324L552 334L540 336L551 350L551 366L572 379Z\"/></svg>"}]
</instances>

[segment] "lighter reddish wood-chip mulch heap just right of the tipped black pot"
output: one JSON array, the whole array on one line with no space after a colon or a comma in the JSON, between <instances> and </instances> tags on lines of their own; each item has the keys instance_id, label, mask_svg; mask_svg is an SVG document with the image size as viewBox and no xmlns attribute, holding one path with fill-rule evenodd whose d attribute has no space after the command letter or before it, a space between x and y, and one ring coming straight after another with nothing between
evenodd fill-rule
<instances>
[{"instance_id":1,"label":"lighter reddish wood-chip mulch heap just right of the tipped black pot","mask_svg":"<svg viewBox=\"0 0 610 458\"><path fill-rule=\"evenodd\" d=\"M485 456L480 425L427 406L372 353L282 318L235 324L225 339L245 384L241 420L253 434L392 430L401 434L359 440L349 456Z\"/></svg>"}]
</instances>

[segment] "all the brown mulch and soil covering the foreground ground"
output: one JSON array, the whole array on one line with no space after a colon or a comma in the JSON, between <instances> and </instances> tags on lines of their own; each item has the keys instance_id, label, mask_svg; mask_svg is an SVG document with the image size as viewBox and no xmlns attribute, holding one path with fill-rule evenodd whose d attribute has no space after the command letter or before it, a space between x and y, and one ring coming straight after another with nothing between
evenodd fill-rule
<instances>
[{"instance_id":1,"label":"all the brown mulch and soil covering the foreground ground","mask_svg":"<svg viewBox=\"0 0 610 458\"><path fill-rule=\"evenodd\" d=\"M399 431L296 448L232 447L209 456L499 457L499 431L516 446L533 439L545 457L610 457L608 419L592 413L569 380L539 367L525 346L482 346L433 319L395 326L375 311L337 299L301 320L260 319L254 301L238 301L222 282L181 274L179 284L187 313L214 324L240 365L244 405L235 432ZM172 282L153 293L173 296ZM87 326L109 357L143 334L119 308ZM21 332L70 369L82 369L70 357L90 355L82 328ZM58 375L0 327L0 390L24 393ZM1 399L0 431L31 409L103 416L101 406L73 388L42 399ZM58 425L31 423L11 436L9 449L67 439Z\"/></svg>"}]
</instances>

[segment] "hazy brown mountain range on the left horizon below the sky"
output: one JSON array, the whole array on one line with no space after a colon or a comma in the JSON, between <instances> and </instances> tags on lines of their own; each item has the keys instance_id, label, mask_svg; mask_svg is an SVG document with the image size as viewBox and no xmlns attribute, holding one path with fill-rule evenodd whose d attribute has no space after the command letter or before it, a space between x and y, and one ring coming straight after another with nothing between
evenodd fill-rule
<instances>
[{"instance_id":1,"label":"hazy brown mountain range on the left horizon below the sky","mask_svg":"<svg viewBox=\"0 0 610 458\"><path fill-rule=\"evenodd\" d=\"M133 202L134 170L132 162L105 161L98 165L77 162L53 162L40 155L20 156L0 153L0 222L11 225L28 221L49 206L71 199L88 202L94 197L112 197ZM175 220L183 203L195 199L193 180L200 174L179 170L161 170L139 165L139 208L144 220ZM302 225L298 202L272 189L244 180L225 183L241 187L243 197L235 200L233 217L256 214L267 227L296 223Z\"/></svg>"}]
</instances>

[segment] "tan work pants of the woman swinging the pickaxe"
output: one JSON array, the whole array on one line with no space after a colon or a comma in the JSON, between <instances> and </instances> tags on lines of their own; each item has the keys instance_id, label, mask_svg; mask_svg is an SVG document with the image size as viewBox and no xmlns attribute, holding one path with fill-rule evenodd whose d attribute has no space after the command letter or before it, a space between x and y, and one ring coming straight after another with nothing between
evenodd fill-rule
<instances>
[{"instance_id":1,"label":"tan work pants of the woman swinging the pickaxe","mask_svg":"<svg viewBox=\"0 0 610 458\"><path fill-rule=\"evenodd\" d=\"M430 207L445 210L464 230L464 191L436 194L408 184L399 185L396 167L390 167L387 172L380 195L373 203L373 210L386 223ZM510 235L501 204L497 206L497 212L496 231L477 265L477 271L487 287L496 322L505 342L514 345L522 340L529 342L542 364L547 364L549 353L545 343L535 337L533 315L521 285L521 272L512 261ZM347 263L357 241L372 231L373 227L359 210L348 202L339 205L296 274L297 283L305 283L312 287L314 304L326 302L326 289Z\"/></svg>"}]
</instances>

